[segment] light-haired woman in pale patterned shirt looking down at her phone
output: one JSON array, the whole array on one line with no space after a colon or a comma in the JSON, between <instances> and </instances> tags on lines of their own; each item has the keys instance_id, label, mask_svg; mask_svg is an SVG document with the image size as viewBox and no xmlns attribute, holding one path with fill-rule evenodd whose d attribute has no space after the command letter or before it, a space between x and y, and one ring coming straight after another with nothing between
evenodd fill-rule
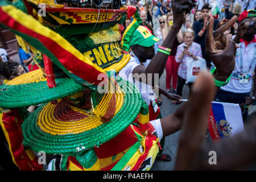
<instances>
[{"instance_id":1,"label":"light-haired woman in pale patterned shirt looking down at her phone","mask_svg":"<svg viewBox=\"0 0 256 182\"><path fill-rule=\"evenodd\" d=\"M202 57L202 50L200 44L193 42L195 39L195 32L191 28L187 28L183 33L184 43L177 47L175 59L177 63L180 63L177 72L177 94L182 96L182 89L187 80L187 57L192 57L193 60L197 60L197 57ZM192 86L192 82L188 82L189 93Z\"/></svg>"}]
</instances>

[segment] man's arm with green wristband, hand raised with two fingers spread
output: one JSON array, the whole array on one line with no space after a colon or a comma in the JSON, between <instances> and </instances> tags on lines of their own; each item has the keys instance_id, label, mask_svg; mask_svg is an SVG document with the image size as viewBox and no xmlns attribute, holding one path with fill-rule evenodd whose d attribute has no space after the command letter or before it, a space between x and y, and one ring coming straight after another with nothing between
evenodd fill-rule
<instances>
[{"instance_id":1,"label":"man's arm with green wristband, hand raised with two fingers spread","mask_svg":"<svg viewBox=\"0 0 256 182\"><path fill-rule=\"evenodd\" d=\"M235 44L234 41L230 38L230 36L226 39L228 39L229 44L226 44L225 49L217 49L218 47L214 46L220 46L221 38L223 39L223 32L225 32L230 26L233 25L234 22L236 22L237 17L233 17L229 20L224 26L218 28L213 34L213 23L214 19L210 19L210 23L208 26L209 30L207 36L207 51L208 54L211 56L211 59L216 65L217 73L213 76L216 80L219 81L226 81L226 79L230 76L234 69L235 60L234 60L234 49ZM213 38L214 36L214 38ZM225 42L226 43L226 42ZM224 45L221 47L224 48ZM227 68L229 67L229 68ZM218 92L218 89L220 87L214 86L213 87L213 95L215 96ZM214 97L212 97L213 100ZM163 137L166 137L168 135L171 135L175 133L176 131L179 131L181 129L181 125L183 124L185 112L188 108L188 103L185 102L182 106L180 106L173 114L168 115L167 117L164 117L161 119L162 129L163 129Z\"/></svg>"}]
</instances>

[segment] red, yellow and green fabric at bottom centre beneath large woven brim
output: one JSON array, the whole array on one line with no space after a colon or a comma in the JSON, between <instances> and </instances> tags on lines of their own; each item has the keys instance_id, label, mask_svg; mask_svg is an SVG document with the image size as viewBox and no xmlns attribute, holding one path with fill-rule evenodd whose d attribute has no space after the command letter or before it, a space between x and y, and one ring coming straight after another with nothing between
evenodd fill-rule
<instances>
[{"instance_id":1,"label":"red, yellow and green fabric at bottom centre beneath large woven brim","mask_svg":"<svg viewBox=\"0 0 256 182\"><path fill-rule=\"evenodd\" d=\"M119 171L125 169L126 166L131 166L130 170L136 171L142 167L144 160L148 158L151 158L150 160L152 165L152 163L154 163L155 156L158 153L158 138L155 135L152 135L154 127L152 127L150 123L147 123L147 125L149 129L147 137L143 137L140 134L139 127L133 125L129 126L125 131L123 131L123 133L101 145L99 148L95 147L94 151L96 152L98 159L89 169ZM130 138L131 141L123 141L125 138ZM104 163L105 159L114 159L120 152L124 153L121 159L113 160L112 163L109 163L109 165L104 168L100 167L102 166L100 163ZM133 158L135 160L130 160ZM75 156L68 156L67 170L85 171L88 169L82 166Z\"/></svg>"}]
</instances>

